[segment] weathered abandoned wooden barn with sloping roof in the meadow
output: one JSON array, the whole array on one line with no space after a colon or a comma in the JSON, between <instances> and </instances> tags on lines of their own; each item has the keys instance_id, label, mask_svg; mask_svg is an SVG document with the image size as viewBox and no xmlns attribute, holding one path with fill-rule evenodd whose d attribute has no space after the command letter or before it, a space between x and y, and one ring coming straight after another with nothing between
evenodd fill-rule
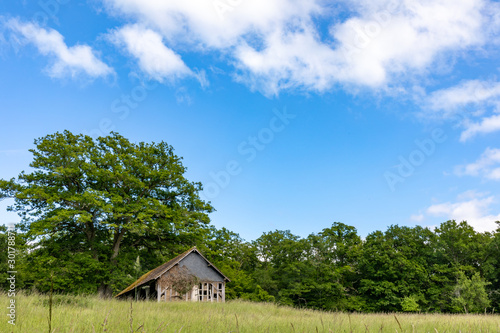
<instances>
[{"instance_id":1,"label":"weathered abandoned wooden barn with sloping roof in the meadow","mask_svg":"<svg viewBox=\"0 0 500 333\"><path fill-rule=\"evenodd\" d=\"M147 272L115 297L225 302L226 282L230 280L195 246Z\"/></svg>"}]
</instances>

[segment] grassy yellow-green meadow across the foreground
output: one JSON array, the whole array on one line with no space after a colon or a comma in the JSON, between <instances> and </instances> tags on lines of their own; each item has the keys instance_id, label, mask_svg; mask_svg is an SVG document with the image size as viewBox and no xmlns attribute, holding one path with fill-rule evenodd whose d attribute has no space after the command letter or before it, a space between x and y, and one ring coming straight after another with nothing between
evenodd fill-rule
<instances>
[{"instance_id":1,"label":"grassy yellow-green meadow across the foreground","mask_svg":"<svg viewBox=\"0 0 500 333\"><path fill-rule=\"evenodd\" d=\"M52 332L500 332L498 315L347 314L240 301L156 303L55 295ZM48 332L49 302L18 294L17 322L7 323L0 294L1 332Z\"/></svg>"}]
</instances>

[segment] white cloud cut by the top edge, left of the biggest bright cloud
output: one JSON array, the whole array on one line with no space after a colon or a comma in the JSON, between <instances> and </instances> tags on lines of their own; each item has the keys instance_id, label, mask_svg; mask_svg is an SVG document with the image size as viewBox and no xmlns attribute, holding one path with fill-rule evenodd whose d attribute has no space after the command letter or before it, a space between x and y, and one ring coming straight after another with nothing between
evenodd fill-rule
<instances>
[{"instance_id":1,"label":"white cloud cut by the top edge, left of the biggest bright cloud","mask_svg":"<svg viewBox=\"0 0 500 333\"><path fill-rule=\"evenodd\" d=\"M202 43L201 48L218 49L236 45L243 35L252 31L267 34L292 17L308 19L309 15L320 10L316 0L103 2L111 12L132 16L137 21L161 31L172 43Z\"/></svg>"}]
</instances>

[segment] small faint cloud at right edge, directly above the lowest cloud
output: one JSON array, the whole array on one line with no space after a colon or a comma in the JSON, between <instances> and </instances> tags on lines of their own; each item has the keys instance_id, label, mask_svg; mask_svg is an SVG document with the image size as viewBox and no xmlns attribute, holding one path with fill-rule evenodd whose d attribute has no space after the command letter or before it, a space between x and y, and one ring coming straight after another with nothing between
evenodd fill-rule
<instances>
[{"instance_id":1,"label":"small faint cloud at right edge, directly above the lowest cloud","mask_svg":"<svg viewBox=\"0 0 500 333\"><path fill-rule=\"evenodd\" d=\"M500 149L487 148L476 162L457 167L455 173L500 180Z\"/></svg>"}]
</instances>

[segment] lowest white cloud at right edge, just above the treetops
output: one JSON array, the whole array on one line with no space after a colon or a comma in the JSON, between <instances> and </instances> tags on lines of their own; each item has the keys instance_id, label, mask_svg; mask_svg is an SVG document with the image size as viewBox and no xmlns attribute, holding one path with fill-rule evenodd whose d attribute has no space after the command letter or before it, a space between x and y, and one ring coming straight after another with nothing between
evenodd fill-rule
<instances>
[{"instance_id":1,"label":"lowest white cloud at right edge, just above the treetops","mask_svg":"<svg viewBox=\"0 0 500 333\"><path fill-rule=\"evenodd\" d=\"M484 194L476 193L474 197L459 198L458 202L446 202L430 206L426 213L428 215L443 217L448 220L467 221L478 232L496 230L495 221L500 220L500 214L491 214L491 206L497 202L494 196L484 197Z\"/></svg>"}]
</instances>

